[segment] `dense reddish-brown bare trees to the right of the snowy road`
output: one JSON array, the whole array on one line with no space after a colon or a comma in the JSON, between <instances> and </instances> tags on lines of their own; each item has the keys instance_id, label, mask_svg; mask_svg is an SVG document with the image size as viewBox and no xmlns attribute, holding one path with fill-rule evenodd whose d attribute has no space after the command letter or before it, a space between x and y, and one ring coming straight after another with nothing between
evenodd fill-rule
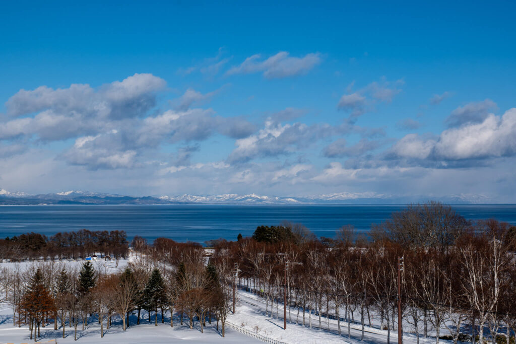
<instances>
[{"instance_id":1,"label":"dense reddish-brown bare trees to the right of the snowy road","mask_svg":"<svg viewBox=\"0 0 516 344\"><path fill-rule=\"evenodd\" d=\"M280 313L286 270L287 302L297 313L288 312L288 321L330 330L332 318L341 334L345 320L349 337L356 322L361 339L365 326L376 324L388 331L389 342L397 327L397 269L403 257L403 327L417 341L514 338L516 228L507 223L471 223L450 207L428 203L394 214L360 244L350 226L324 241L300 227L296 235L283 235L286 240L273 234L292 230L287 223L261 226L253 238L216 242L213 260L227 261L228 279L237 265L240 287L263 297L268 316ZM173 251L177 247L164 249L163 241L141 249L157 260L181 255Z\"/></svg>"}]
</instances>

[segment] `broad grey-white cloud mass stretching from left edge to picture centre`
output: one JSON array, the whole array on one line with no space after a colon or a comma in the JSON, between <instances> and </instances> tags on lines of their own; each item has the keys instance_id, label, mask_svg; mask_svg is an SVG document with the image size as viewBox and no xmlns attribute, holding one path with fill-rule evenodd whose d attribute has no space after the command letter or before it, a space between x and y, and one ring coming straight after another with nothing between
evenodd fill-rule
<instances>
[{"instance_id":1,"label":"broad grey-white cloud mass stretching from left edge to picture centre","mask_svg":"<svg viewBox=\"0 0 516 344\"><path fill-rule=\"evenodd\" d=\"M199 142L214 134L240 139L256 131L244 117L189 109L218 90L201 94L189 89L181 97L179 110L150 114L157 92L164 87L159 77L135 74L98 89L71 85L21 90L6 104L8 116L0 125L0 141L30 144L76 139L61 159L95 170L140 166L145 162L140 158L164 142ZM6 149L4 155L17 152Z\"/></svg>"}]
</instances>

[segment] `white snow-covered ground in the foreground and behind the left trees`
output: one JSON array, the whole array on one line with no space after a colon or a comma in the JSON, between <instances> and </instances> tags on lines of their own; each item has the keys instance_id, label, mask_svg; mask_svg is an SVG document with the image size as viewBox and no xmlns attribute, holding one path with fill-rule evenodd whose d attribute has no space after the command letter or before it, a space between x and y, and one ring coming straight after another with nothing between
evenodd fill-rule
<instances>
[{"instance_id":1,"label":"white snow-covered ground in the foreground and behind the left trees","mask_svg":"<svg viewBox=\"0 0 516 344\"><path fill-rule=\"evenodd\" d=\"M93 261L92 264L95 269L102 271L103 273L115 273L124 269L128 261L134 260L135 257L128 257L127 259L116 260L98 260ZM58 264L66 264L70 267L76 267L77 269L84 263L84 260L62 260L57 262ZM49 264L44 262L35 263L0 263L2 267L8 267L12 270L26 270L34 269L39 264ZM292 323L287 322L287 329L283 330L283 308L280 305L279 316L276 314L276 306L273 308L274 316L270 317L270 305L269 305L269 316L265 314L265 301L256 296L253 293L239 290L238 291L238 303L235 314L228 316L228 322L236 326L240 326L242 329L249 331L250 333L261 335L270 339L275 339L285 343L385 343L387 341L387 331L378 329L372 329L368 326L365 327L364 341L360 341L361 337L361 326L357 324L351 324L351 338L348 338L347 322L341 322L341 332L339 336L337 333L337 321L322 319L322 330L318 329L318 318L312 315L312 328L310 328L308 314L306 315L305 323L302 325L302 315L299 317L299 324L297 324L297 309L290 308L290 319ZM142 318L147 319L147 313L142 312ZM103 341L106 343L170 343L180 342L188 340L192 343L248 343L248 342L260 342L257 339L251 338L250 336L240 333L239 331L233 330L230 326L226 326L225 338L222 338L215 329L215 322L212 324L206 324L204 333L200 332L200 327L197 326L195 329L190 330L187 322L180 325L179 318L174 316L174 327L170 327L170 314L166 314L165 323L158 323L158 326L154 326L153 322L148 323L147 320L141 320L140 325L136 325L136 316L130 318L130 327L127 331L122 331L121 320L118 317L114 317L114 325L109 330L105 330L104 338L100 338L100 325L96 321L95 317L91 317L87 329L82 331L82 325L79 324L77 330L77 342L79 343L98 343ZM287 314L287 319L289 319ZM158 317L158 321L159 321ZM105 326L104 326L105 329ZM41 329L42 337L39 341L47 341L51 339L57 339L59 343L72 343L74 341L74 329L73 327L66 327L66 338L61 338L62 329L58 331L54 330L54 325L50 324L44 329ZM397 333L391 332L391 341L397 342ZM420 338L422 344L434 343L435 338ZM30 342L29 331L27 326L13 326L12 325L12 308L9 307L8 303L3 302L0 304L0 343L24 343ZM404 333L405 343L415 343L416 338L413 334ZM441 342L448 342L441 340Z\"/></svg>"}]
</instances>

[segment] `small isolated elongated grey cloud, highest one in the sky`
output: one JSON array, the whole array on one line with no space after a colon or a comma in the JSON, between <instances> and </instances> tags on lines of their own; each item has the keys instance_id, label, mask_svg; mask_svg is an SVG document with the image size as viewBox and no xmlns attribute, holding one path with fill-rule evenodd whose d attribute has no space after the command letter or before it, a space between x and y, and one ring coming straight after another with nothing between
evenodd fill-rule
<instances>
[{"instance_id":1,"label":"small isolated elongated grey cloud, highest one in the sky","mask_svg":"<svg viewBox=\"0 0 516 344\"><path fill-rule=\"evenodd\" d=\"M263 72L267 79L284 78L308 73L320 63L319 53L307 54L304 57L291 57L287 52L279 52L265 60L261 55L252 55L239 65L226 72L227 75L250 74Z\"/></svg>"}]
</instances>

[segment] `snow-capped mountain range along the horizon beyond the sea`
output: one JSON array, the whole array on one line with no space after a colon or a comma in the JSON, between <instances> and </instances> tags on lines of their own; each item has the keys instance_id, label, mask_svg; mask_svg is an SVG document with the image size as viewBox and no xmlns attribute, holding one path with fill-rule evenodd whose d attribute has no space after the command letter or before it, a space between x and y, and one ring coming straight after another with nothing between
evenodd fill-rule
<instances>
[{"instance_id":1,"label":"snow-capped mountain range along the horizon beyond the sea","mask_svg":"<svg viewBox=\"0 0 516 344\"><path fill-rule=\"evenodd\" d=\"M434 195L389 195L376 192L340 192L308 195L304 197L267 196L250 193L220 195L163 195L126 196L114 193L90 191L62 191L57 193L28 194L0 189L0 205L4 204L406 204L428 200L444 203L495 203L481 194Z\"/></svg>"}]
</instances>

